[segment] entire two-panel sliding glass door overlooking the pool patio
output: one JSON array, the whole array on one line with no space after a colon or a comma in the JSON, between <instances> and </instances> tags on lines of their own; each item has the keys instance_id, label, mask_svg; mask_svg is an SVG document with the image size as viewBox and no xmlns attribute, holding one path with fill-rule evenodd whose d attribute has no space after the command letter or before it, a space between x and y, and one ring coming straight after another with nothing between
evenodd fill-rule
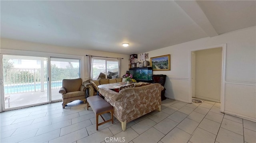
<instances>
[{"instance_id":1,"label":"entire two-panel sliding glass door overlooking the pool patio","mask_svg":"<svg viewBox=\"0 0 256 143\"><path fill-rule=\"evenodd\" d=\"M2 110L61 101L62 80L80 78L80 59L0 56Z\"/></svg>"}]
</instances>

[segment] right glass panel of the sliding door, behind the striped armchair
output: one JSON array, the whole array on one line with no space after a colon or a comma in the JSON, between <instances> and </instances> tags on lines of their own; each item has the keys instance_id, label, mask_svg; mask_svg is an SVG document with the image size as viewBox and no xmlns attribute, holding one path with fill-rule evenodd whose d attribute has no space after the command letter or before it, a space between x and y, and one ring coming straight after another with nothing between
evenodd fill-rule
<instances>
[{"instance_id":1,"label":"right glass panel of the sliding door, behind the striped armchair","mask_svg":"<svg viewBox=\"0 0 256 143\"><path fill-rule=\"evenodd\" d=\"M51 97L52 100L62 100L59 93L63 79L80 77L80 60L66 58L51 58Z\"/></svg>"}]
</instances>

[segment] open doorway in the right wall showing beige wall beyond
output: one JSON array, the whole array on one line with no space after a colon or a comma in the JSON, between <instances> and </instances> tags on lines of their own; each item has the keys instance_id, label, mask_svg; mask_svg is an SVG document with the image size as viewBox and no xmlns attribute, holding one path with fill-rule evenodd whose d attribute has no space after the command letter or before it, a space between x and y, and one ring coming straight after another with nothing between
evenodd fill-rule
<instances>
[{"instance_id":1,"label":"open doorway in the right wall showing beige wall beyond","mask_svg":"<svg viewBox=\"0 0 256 143\"><path fill-rule=\"evenodd\" d=\"M190 51L190 102L200 98L224 109L225 65L226 44Z\"/></svg>"}]
</instances>

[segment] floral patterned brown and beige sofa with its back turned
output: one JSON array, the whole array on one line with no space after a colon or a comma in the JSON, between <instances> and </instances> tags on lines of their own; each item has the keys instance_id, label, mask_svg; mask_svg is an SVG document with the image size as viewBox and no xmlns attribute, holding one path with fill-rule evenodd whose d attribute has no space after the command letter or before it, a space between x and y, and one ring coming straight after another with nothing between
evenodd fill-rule
<instances>
[{"instance_id":1,"label":"floral patterned brown and beige sofa with its back turned","mask_svg":"<svg viewBox=\"0 0 256 143\"><path fill-rule=\"evenodd\" d=\"M136 84L135 84L136 85ZM108 88L99 88L100 94L114 107L114 116L122 124L148 114L156 109L161 110L161 91L164 87L159 83L145 86L124 88L115 92Z\"/></svg>"}]
</instances>

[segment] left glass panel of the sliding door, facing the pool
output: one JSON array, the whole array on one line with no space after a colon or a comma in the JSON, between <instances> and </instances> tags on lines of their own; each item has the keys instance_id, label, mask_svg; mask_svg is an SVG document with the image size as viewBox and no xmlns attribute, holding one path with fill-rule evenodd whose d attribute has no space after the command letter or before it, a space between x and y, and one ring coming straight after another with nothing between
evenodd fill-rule
<instances>
[{"instance_id":1,"label":"left glass panel of the sliding door, facing the pool","mask_svg":"<svg viewBox=\"0 0 256 143\"><path fill-rule=\"evenodd\" d=\"M4 109L49 102L47 57L2 55Z\"/></svg>"}]
</instances>

